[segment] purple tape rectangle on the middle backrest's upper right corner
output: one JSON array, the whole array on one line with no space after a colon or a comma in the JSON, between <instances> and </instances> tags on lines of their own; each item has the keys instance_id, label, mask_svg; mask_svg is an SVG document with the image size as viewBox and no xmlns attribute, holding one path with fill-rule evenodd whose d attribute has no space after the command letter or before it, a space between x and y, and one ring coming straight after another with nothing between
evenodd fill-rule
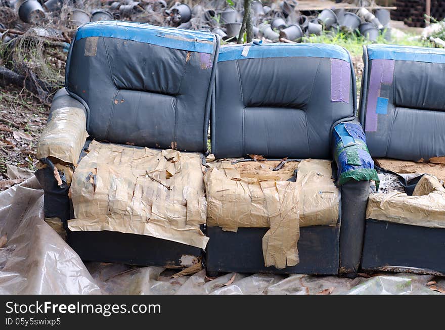
<instances>
[{"instance_id":1,"label":"purple tape rectangle on the middle backrest's upper right corner","mask_svg":"<svg viewBox=\"0 0 445 330\"><path fill-rule=\"evenodd\" d=\"M331 59L331 102L349 103L351 68L343 60Z\"/></svg>"}]
</instances>

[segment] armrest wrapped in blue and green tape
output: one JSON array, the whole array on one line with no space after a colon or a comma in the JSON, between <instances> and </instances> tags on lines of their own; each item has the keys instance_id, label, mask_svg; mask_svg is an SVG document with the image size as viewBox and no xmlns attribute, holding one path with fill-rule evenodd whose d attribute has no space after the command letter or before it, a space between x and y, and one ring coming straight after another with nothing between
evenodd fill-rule
<instances>
[{"instance_id":1,"label":"armrest wrapped in blue and green tape","mask_svg":"<svg viewBox=\"0 0 445 330\"><path fill-rule=\"evenodd\" d=\"M378 187L379 178L366 145L362 125L355 121L340 123L334 127L332 134L334 160L338 168L338 185L351 179L375 180Z\"/></svg>"}]
</instances>

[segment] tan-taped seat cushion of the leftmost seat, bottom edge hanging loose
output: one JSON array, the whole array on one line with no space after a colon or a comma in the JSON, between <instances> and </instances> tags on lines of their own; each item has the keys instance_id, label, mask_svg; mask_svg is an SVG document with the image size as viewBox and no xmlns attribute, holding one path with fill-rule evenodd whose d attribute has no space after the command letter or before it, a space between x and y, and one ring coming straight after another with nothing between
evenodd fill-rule
<instances>
[{"instance_id":1,"label":"tan-taped seat cushion of the leftmost seat, bottom edge hanging loose","mask_svg":"<svg viewBox=\"0 0 445 330\"><path fill-rule=\"evenodd\" d=\"M70 230L149 235L204 249L201 155L93 141L71 185Z\"/></svg>"}]
</instances>

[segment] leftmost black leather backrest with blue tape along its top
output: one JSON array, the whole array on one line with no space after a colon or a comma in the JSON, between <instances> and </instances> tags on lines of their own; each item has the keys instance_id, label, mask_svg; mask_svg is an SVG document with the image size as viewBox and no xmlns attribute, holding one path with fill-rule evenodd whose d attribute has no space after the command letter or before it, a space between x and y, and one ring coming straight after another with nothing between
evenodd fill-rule
<instances>
[{"instance_id":1,"label":"leftmost black leather backrest with blue tape along its top","mask_svg":"<svg viewBox=\"0 0 445 330\"><path fill-rule=\"evenodd\" d=\"M70 50L67 90L88 108L98 140L205 151L217 49L206 32L86 24Z\"/></svg>"}]
</instances>

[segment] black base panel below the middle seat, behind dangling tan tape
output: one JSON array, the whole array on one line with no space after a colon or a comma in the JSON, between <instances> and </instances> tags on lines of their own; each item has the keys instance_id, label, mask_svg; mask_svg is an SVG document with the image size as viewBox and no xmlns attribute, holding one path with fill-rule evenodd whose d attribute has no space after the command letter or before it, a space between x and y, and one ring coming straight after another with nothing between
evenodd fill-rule
<instances>
[{"instance_id":1,"label":"black base panel below the middle seat, behind dangling tan tape","mask_svg":"<svg viewBox=\"0 0 445 330\"><path fill-rule=\"evenodd\" d=\"M293 267L264 267L262 237L269 228L238 228L237 232L207 227L206 269L208 273L338 273L340 227L300 227L298 252L300 262Z\"/></svg>"}]
</instances>

